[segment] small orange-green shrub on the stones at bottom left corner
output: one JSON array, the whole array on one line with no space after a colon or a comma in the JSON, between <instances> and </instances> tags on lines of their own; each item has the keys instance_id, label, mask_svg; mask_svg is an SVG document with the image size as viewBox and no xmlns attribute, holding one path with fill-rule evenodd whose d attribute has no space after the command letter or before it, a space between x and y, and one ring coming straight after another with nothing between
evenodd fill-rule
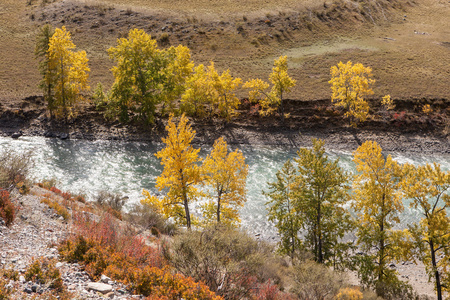
<instances>
[{"instance_id":1,"label":"small orange-green shrub on the stones at bottom left corner","mask_svg":"<svg viewBox=\"0 0 450 300\"><path fill-rule=\"evenodd\" d=\"M63 292L63 281L55 263L55 260L49 260L47 258L34 260L25 271L25 279L39 284L46 284L58 293Z\"/></svg>"}]
</instances>

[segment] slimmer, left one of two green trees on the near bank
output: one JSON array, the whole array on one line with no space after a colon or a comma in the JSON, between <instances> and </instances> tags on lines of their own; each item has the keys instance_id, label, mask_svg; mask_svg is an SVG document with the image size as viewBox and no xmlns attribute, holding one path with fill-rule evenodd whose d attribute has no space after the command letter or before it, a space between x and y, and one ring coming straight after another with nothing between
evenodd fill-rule
<instances>
[{"instance_id":1,"label":"slimmer, left one of two green trees on the near bank","mask_svg":"<svg viewBox=\"0 0 450 300\"><path fill-rule=\"evenodd\" d=\"M264 192L270 198L266 203L267 214L280 235L278 251L293 260L302 245L299 237L302 221L297 207L297 171L291 160L284 163L276 173L276 180L268 185L269 191Z\"/></svg>"}]
</instances>

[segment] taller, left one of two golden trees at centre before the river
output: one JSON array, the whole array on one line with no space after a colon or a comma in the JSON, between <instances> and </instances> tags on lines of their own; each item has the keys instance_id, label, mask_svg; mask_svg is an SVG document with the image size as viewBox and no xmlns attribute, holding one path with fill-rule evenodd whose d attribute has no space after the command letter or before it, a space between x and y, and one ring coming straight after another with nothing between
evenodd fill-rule
<instances>
[{"instance_id":1,"label":"taller, left one of two golden trees at centre before the river","mask_svg":"<svg viewBox=\"0 0 450 300\"><path fill-rule=\"evenodd\" d=\"M161 191L168 189L163 199L158 199L144 191L146 197L142 202L152 205L167 218L173 217L178 224L186 225L188 229L194 223L189 204L197 200L199 191L196 187L201 182L201 173L198 163L200 149L191 145L195 131L183 114L175 124L174 118L169 119L166 126L167 137L162 141L166 145L156 153L161 159L164 169L156 178L156 187Z\"/></svg>"}]
</instances>

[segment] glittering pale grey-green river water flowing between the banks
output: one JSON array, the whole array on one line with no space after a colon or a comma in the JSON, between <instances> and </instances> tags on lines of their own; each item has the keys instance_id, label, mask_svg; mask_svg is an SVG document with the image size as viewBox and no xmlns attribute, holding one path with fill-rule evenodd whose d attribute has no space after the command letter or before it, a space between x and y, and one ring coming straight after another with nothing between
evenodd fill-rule
<instances>
[{"instance_id":1,"label":"glittering pale grey-green river water flowing between the banks","mask_svg":"<svg viewBox=\"0 0 450 300\"><path fill-rule=\"evenodd\" d=\"M163 147L161 143L59 140L42 137L0 138L0 150L33 150L35 180L56 178L58 188L72 193L85 194L93 199L101 190L118 192L129 197L129 204L139 201L142 189L155 190L156 177L162 166L154 153ZM275 173L287 159L295 157L298 149L243 145L239 147L249 165L247 178L247 202L241 210L243 227L251 234L264 239L275 239L276 230L267 221L262 191L267 182L275 179ZM234 149L232 149L234 150ZM210 148L201 151L205 157ZM351 152L329 151L330 158L340 158L340 166L355 171ZM400 163L425 164L437 162L450 170L450 155L404 155L391 153ZM195 210L195 208L194 208ZM417 220L416 211L406 207L401 216L402 224Z\"/></svg>"}]
</instances>

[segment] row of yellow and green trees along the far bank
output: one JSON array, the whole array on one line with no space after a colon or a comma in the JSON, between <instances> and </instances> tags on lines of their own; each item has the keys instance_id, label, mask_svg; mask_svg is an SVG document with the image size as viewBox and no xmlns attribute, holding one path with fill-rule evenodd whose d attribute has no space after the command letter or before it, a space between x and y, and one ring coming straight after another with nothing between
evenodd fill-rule
<instances>
[{"instance_id":1,"label":"row of yellow and green trees along the far bank","mask_svg":"<svg viewBox=\"0 0 450 300\"><path fill-rule=\"evenodd\" d=\"M53 30L45 25L40 29L35 49L42 74L40 87L51 116L64 120L73 117L90 89L86 52L74 49L64 26ZM127 38L118 39L108 54L116 63L111 69L114 84L109 91L99 84L92 96L107 118L152 124L158 118L184 113L230 121L241 102L236 96L240 87L248 90L248 99L260 115L289 117L284 99L296 81L288 74L286 56L274 61L268 82L258 78L243 83L230 70L220 74L213 62L195 66L189 48L183 45L159 49L157 41L140 29L132 29ZM331 75L332 101L345 110L352 125L365 121L369 104L364 98L373 94L371 85L375 82L371 68L349 61L333 66ZM381 103L385 110L393 108L389 96Z\"/></svg>"}]
</instances>

